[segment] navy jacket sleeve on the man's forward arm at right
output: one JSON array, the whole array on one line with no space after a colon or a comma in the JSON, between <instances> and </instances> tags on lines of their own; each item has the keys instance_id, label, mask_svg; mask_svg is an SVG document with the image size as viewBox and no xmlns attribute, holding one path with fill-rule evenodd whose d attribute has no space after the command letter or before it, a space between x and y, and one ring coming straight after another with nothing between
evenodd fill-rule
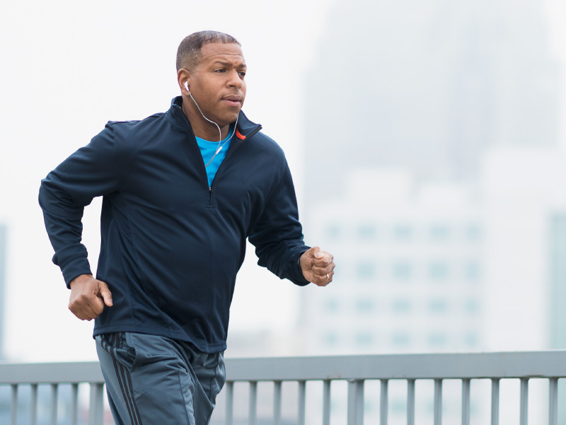
<instances>
[{"instance_id":1,"label":"navy jacket sleeve on the man's forward arm at right","mask_svg":"<svg viewBox=\"0 0 566 425\"><path fill-rule=\"evenodd\" d=\"M295 189L287 162L282 180L267 201L249 240L255 245L260 266L296 285L309 283L299 266L299 258L309 247L303 242Z\"/></svg>"}]
</instances>

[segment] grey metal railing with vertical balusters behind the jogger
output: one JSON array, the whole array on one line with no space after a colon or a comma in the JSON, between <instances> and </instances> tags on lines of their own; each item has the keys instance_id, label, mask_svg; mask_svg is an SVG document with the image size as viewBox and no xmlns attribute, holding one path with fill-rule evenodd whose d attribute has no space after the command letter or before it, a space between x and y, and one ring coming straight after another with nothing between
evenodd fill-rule
<instances>
[{"instance_id":1,"label":"grey metal railing with vertical balusters behind the jogger","mask_svg":"<svg viewBox=\"0 0 566 425\"><path fill-rule=\"evenodd\" d=\"M558 379L566 378L566 351L526 351L481 354L401 354L369 356L320 356L259 359L226 359L225 423L234 418L234 383L249 383L248 424L258 424L258 383L273 385L273 420L282 424L282 383L298 383L299 425L306 423L306 383L323 382L323 402L320 417L323 425L330 425L331 383L346 380L347 424L364 422L364 383L379 380L379 424L388 424L388 384L391 380L405 380L406 423L415 424L415 382L434 380L434 425L442 422L442 384L444 380L461 380L461 424L470 424L470 382L491 380L491 424L499 424L499 382L514 378L520 380L520 425L527 425L529 380L548 380L548 423L558 425ZM85 363L12 363L0 364L0 389L11 388L11 425L18 424L18 388L30 385L30 425L37 424L37 387L48 385L50 392L50 424L57 424L59 385L71 385L69 423L78 424L78 386L90 385L88 424L103 424L103 378L97 362Z\"/></svg>"}]
</instances>

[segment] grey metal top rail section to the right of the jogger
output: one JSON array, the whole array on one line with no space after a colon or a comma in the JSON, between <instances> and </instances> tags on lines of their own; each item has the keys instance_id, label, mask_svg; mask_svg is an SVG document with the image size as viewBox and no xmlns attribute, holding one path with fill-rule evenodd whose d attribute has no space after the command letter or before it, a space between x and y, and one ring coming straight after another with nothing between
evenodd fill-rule
<instances>
[{"instance_id":1,"label":"grey metal top rail section to the right of the jogger","mask_svg":"<svg viewBox=\"0 0 566 425\"><path fill-rule=\"evenodd\" d=\"M274 367L277 365L277 367ZM566 351L227 359L228 380L566 377Z\"/></svg>"}]
</instances>

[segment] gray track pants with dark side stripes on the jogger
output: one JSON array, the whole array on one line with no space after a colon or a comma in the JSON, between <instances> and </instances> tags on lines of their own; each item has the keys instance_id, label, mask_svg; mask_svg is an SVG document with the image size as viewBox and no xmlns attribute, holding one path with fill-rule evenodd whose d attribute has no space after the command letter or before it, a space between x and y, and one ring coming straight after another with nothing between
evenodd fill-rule
<instances>
[{"instance_id":1,"label":"gray track pants with dark side stripes on the jogger","mask_svg":"<svg viewBox=\"0 0 566 425\"><path fill-rule=\"evenodd\" d=\"M225 381L221 353L132 332L98 335L116 425L207 425Z\"/></svg>"}]
</instances>

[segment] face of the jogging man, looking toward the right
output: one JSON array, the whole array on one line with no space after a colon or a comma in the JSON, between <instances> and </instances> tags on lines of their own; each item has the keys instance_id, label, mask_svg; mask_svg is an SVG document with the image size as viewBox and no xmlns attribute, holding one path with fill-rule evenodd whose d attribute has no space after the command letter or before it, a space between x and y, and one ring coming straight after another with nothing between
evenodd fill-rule
<instances>
[{"instance_id":1,"label":"face of the jogging man, looking toward the right","mask_svg":"<svg viewBox=\"0 0 566 425\"><path fill-rule=\"evenodd\" d=\"M190 70L190 92L204 116L224 127L236 121L246 98L246 61L236 43L207 43L200 52L200 64Z\"/></svg>"}]
</instances>

